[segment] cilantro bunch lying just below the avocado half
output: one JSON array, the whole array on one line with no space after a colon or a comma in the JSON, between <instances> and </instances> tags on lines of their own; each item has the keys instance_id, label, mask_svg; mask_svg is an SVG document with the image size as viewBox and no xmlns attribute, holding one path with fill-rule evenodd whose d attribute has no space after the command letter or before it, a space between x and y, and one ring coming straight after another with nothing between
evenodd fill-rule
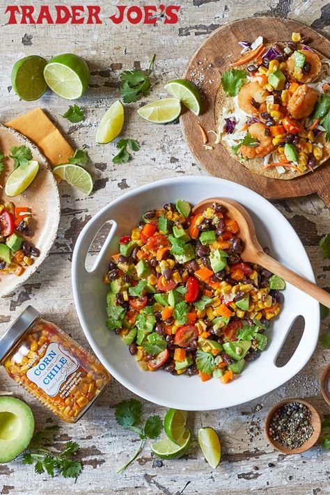
<instances>
[{"instance_id":1,"label":"cilantro bunch lying just below the avocado half","mask_svg":"<svg viewBox=\"0 0 330 495\"><path fill-rule=\"evenodd\" d=\"M79 449L78 443L68 441L63 450L55 452L42 446L42 441L49 441L49 434L58 430L57 425L47 426L45 430L34 435L27 452L23 455L23 464L33 464L36 473L55 476L61 473L64 478L77 478L83 469L80 461L72 459Z\"/></svg>"}]
</instances>

